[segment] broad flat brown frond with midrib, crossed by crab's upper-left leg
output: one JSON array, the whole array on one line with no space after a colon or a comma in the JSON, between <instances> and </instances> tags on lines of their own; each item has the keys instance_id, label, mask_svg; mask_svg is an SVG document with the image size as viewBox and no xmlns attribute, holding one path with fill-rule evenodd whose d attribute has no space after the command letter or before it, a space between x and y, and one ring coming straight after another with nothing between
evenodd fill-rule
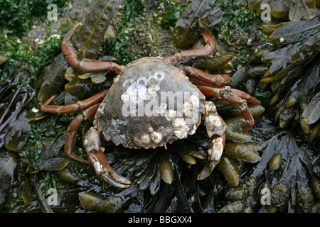
<instances>
[{"instance_id":1,"label":"broad flat brown frond with midrib, crossed by crab's upper-left leg","mask_svg":"<svg viewBox=\"0 0 320 227\"><path fill-rule=\"evenodd\" d=\"M71 42L75 51L78 52L79 59L84 58L95 60L102 41L114 16L115 9L122 1L97 1L92 11L85 18L84 25L80 28L75 38ZM68 63L61 53L50 65L41 70L36 81L36 88L39 89L38 100L46 101L61 92L60 89L65 83L64 74L68 69Z\"/></svg>"}]
</instances>

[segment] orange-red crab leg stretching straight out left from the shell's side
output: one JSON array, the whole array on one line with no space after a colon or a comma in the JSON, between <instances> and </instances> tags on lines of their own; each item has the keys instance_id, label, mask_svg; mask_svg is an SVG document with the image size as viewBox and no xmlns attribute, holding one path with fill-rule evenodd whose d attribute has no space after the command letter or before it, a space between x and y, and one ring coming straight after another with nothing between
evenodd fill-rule
<instances>
[{"instance_id":1,"label":"orange-red crab leg stretching straight out left from the shell's side","mask_svg":"<svg viewBox=\"0 0 320 227\"><path fill-rule=\"evenodd\" d=\"M85 99L82 101L78 101L75 104L65 105L65 106L54 106L49 105L55 96L52 96L48 99L42 106L41 111L46 113L58 113L58 114L70 114L75 111L82 111L83 109L87 108L87 106L91 106L92 104L96 104L97 102L102 101L105 99L105 96L108 94L109 89L102 91L94 96L91 96L89 99Z\"/></svg>"}]
</instances>

